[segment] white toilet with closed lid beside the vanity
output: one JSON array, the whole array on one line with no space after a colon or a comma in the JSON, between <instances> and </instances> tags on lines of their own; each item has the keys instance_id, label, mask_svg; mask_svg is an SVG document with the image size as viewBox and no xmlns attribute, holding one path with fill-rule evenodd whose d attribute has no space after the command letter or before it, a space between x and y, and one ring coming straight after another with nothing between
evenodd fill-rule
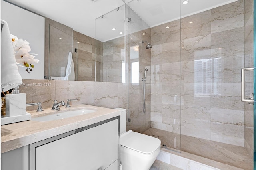
<instances>
[{"instance_id":1,"label":"white toilet with closed lid beside the vanity","mask_svg":"<svg viewBox=\"0 0 256 170\"><path fill-rule=\"evenodd\" d=\"M145 134L126 132L126 109L120 114L120 164L122 170L149 170L160 152L161 141Z\"/></svg>"}]
</instances>

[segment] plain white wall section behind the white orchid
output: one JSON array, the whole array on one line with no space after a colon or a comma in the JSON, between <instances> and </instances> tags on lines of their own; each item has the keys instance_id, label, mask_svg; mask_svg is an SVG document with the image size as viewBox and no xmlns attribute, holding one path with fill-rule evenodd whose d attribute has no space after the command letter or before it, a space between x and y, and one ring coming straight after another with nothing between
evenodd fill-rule
<instances>
[{"instance_id":1,"label":"plain white wall section behind the white orchid","mask_svg":"<svg viewBox=\"0 0 256 170\"><path fill-rule=\"evenodd\" d=\"M8 23L10 33L30 43L30 53L39 59L29 74L19 67L22 79L44 79L44 17L1 0L1 19ZM2 49L3 50L3 49Z\"/></svg>"}]
</instances>

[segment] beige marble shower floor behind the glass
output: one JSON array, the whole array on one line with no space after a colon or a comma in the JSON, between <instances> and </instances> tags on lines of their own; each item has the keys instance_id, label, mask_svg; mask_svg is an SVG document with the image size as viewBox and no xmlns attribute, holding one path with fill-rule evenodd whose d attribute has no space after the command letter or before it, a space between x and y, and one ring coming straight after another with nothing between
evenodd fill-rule
<instances>
[{"instance_id":1,"label":"beige marble shower floor behind the glass","mask_svg":"<svg viewBox=\"0 0 256 170\"><path fill-rule=\"evenodd\" d=\"M156 128L149 128L144 134L154 137L159 136L161 145L165 144L170 149L175 148L244 170L253 169L252 158L250 158L246 149L241 146L175 134Z\"/></svg>"}]
</instances>

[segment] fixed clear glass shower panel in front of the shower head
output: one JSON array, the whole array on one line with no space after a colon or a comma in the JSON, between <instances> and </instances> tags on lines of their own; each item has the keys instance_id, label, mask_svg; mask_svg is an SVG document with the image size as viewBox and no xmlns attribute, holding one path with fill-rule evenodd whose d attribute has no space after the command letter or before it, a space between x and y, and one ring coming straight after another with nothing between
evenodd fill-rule
<instances>
[{"instance_id":1,"label":"fixed clear glass shower panel in front of the shower head","mask_svg":"<svg viewBox=\"0 0 256 170\"><path fill-rule=\"evenodd\" d=\"M183 109L183 55L181 49L181 20L177 12L175 20L150 28L140 18L138 4L155 3L156 9L170 6L170 1L130 1L128 18L128 130L132 129L161 140L163 148L180 150L181 112ZM180 2L173 1L179 11ZM171 10L171 9L170 9ZM136 13L136 12L138 13ZM157 10L156 10L157 11ZM160 10L159 10L160 12ZM152 16L157 17L157 15ZM158 18L161 20L162 18ZM146 49L147 41L152 48ZM138 55L136 55L138 53ZM138 62L138 76L134 81L134 66ZM136 68L136 67L135 67ZM143 81L146 72L146 111L143 113Z\"/></svg>"}]
</instances>

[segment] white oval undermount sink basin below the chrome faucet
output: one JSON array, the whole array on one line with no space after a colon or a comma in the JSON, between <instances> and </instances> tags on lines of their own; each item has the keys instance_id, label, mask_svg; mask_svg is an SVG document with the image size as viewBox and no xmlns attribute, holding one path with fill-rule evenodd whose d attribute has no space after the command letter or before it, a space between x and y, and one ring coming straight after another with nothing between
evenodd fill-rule
<instances>
[{"instance_id":1,"label":"white oval undermount sink basin below the chrome faucet","mask_svg":"<svg viewBox=\"0 0 256 170\"><path fill-rule=\"evenodd\" d=\"M51 115L45 115L40 117L32 117L32 121L39 121L39 122L46 122L46 121L53 121L58 119L64 119L68 117L78 116L78 115L84 115L88 113L96 112L97 109L93 107L86 107L80 110L75 111L65 111L65 112L58 112Z\"/></svg>"}]
</instances>

